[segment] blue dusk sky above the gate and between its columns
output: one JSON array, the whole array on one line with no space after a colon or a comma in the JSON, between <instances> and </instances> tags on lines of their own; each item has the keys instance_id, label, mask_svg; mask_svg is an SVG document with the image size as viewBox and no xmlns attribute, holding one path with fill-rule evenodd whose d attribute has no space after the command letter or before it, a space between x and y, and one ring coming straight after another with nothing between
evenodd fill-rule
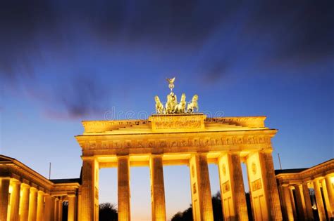
<instances>
[{"instance_id":1,"label":"blue dusk sky above the gate and between its columns","mask_svg":"<svg viewBox=\"0 0 334 221\"><path fill-rule=\"evenodd\" d=\"M168 93L165 78L176 76L178 97L197 93L201 111L268 116L266 125L279 130L276 168L278 152L283 168L331 159L333 8L333 1L1 3L0 152L45 176L51 161L53 178L78 177L73 136L82 133L80 121L104 119L110 110L119 119L129 111L142 118L154 111L154 95ZM149 170L133 170L131 184L149 192L149 180L140 181ZM116 202L106 171L100 198ZM211 166L213 192L215 171ZM167 197L180 199L173 179L187 177L187 168L165 172ZM137 201L149 197L136 193ZM146 199L142 220L150 215ZM170 214L183 209L166 201Z\"/></svg>"}]
</instances>

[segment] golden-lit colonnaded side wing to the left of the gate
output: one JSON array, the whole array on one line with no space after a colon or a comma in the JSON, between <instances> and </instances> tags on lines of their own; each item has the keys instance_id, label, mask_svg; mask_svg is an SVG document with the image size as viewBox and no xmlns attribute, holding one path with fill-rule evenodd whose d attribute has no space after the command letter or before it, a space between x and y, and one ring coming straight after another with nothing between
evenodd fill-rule
<instances>
[{"instance_id":1,"label":"golden-lit colonnaded side wing to the left of the gate","mask_svg":"<svg viewBox=\"0 0 334 221\"><path fill-rule=\"evenodd\" d=\"M48 180L20 161L0 155L0 221L77 220L80 179Z\"/></svg>"}]
</instances>

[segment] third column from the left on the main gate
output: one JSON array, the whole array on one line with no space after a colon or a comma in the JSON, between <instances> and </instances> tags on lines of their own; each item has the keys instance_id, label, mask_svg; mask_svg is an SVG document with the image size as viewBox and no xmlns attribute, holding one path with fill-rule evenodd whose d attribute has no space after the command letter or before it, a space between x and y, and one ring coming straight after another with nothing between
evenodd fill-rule
<instances>
[{"instance_id":1,"label":"third column from the left on the main gate","mask_svg":"<svg viewBox=\"0 0 334 221\"><path fill-rule=\"evenodd\" d=\"M152 155L149 161L151 173L152 220L166 220L165 187L163 184L163 163L161 155Z\"/></svg>"}]
</instances>

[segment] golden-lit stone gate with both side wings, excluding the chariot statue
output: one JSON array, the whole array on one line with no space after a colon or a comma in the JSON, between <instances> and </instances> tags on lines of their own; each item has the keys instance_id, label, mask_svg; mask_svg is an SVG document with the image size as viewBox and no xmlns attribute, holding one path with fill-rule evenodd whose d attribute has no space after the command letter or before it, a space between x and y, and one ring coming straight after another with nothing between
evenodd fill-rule
<instances>
[{"instance_id":1,"label":"golden-lit stone gate with both side wings, excluding the chariot statue","mask_svg":"<svg viewBox=\"0 0 334 221\"><path fill-rule=\"evenodd\" d=\"M248 220L241 163L247 166L254 220L312 220L314 208L320 220L333 217L334 160L275 175L271 138L277 130L267 128L265 119L162 114L83 121L84 133L76 136L82 147L80 179L48 180L0 155L0 221L58 221L63 201L68 201L68 220L97 221L99 169L110 167L118 169L118 220L130 220L131 166L149 167L152 220L166 220L165 165L189 167L194 220L213 220L209 163L218 166L225 220ZM308 197L309 189L316 200Z\"/></svg>"}]
</instances>

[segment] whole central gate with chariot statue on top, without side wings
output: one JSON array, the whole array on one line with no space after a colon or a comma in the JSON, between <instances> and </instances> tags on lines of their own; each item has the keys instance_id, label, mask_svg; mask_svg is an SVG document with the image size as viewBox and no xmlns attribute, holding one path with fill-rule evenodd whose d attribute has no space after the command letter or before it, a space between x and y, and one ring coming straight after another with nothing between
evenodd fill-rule
<instances>
[{"instance_id":1,"label":"whole central gate with chariot statue on top, without side wings","mask_svg":"<svg viewBox=\"0 0 334 221\"><path fill-rule=\"evenodd\" d=\"M194 220L214 220L208 163L219 170L225 220L248 220L241 163L247 166L255 220L282 220L271 152L277 130L265 116L209 118L198 113L198 96L177 102L174 79L166 105L145 120L83 121L78 220L98 220L99 169L118 169L118 220L130 220L130 166L149 166L152 220L166 220L164 165L187 165Z\"/></svg>"}]
</instances>

